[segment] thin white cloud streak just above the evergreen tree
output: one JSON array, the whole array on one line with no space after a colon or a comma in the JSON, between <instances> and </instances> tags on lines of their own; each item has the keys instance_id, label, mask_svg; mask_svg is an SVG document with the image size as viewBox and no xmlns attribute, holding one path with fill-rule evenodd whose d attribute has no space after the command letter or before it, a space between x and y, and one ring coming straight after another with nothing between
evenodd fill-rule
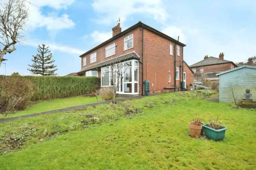
<instances>
[{"instance_id":1,"label":"thin white cloud streak just above the evergreen tree","mask_svg":"<svg viewBox=\"0 0 256 170\"><path fill-rule=\"evenodd\" d=\"M41 43L40 43L41 42ZM57 51L61 51L61 52L66 52L66 53L72 53L72 54L83 54L86 50L80 50L74 47L70 47L70 46L65 46L65 45L61 45L61 44L56 44L56 43L49 43L49 42L45 42L45 41L40 41L40 40L29 40L27 42L25 42L25 44L32 46L32 47L38 47L39 44L42 44L42 42L46 45L49 46L50 50L57 50Z\"/></svg>"}]
</instances>

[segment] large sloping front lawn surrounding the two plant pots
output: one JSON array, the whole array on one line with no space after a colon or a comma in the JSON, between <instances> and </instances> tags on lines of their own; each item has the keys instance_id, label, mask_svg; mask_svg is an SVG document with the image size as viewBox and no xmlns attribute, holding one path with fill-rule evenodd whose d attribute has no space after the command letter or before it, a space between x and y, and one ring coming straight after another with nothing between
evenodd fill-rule
<instances>
[{"instance_id":1,"label":"large sloping front lawn surrounding the two plant pots","mask_svg":"<svg viewBox=\"0 0 256 170\"><path fill-rule=\"evenodd\" d=\"M224 140L189 136L194 116L217 115L228 128ZM25 136L22 148L4 144L15 134ZM193 92L5 122L0 135L0 169L256 169L256 110Z\"/></svg>"}]
</instances>

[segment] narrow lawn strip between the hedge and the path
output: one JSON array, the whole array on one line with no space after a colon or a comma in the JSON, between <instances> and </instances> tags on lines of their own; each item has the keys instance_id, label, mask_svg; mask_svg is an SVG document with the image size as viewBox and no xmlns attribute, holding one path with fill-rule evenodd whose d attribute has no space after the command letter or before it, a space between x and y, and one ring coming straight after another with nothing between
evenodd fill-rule
<instances>
[{"instance_id":1,"label":"narrow lawn strip between the hedge and the path","mask_svg":"<svg viewBox=\"0 0 256 170\"><path fill-rule=\"evenodd\" d=\"M23 115L31 115L34 113L42 113L46 111L52 111L52 110L57 110L61 108L96 103L96 102L97 102L96 97L83 97L83 96L39 101L36 104L28 106L28 108L23 111L18 111L16 113L7 114L7 115L0 114L0 119L23 116Z\"/></svg>"}]
</instances>

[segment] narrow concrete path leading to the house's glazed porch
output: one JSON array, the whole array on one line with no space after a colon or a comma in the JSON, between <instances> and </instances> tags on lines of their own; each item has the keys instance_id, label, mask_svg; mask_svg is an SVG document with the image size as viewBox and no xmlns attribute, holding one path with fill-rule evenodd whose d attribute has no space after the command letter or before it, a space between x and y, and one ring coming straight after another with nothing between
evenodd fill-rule
<instances>
[{"instance_id":1,"label":"narrow concrete path leading to the house's glazed porch","mask_svg":"<svg viewBox=\"0 0 256 170\"><path fill-rule=\"evenodd\" d=\"M133 99L140 99L140 98L143 98L143 96L120 96L116 99L116 102L122 102L122 101L125 101L125 100L133 100ZM58 109L58 110L54 110L54 111L47 111L47 112L35 113L35 114L31 114L31 115L24 115L24 116L17 116L17 117L11 117L11 118L6 118L6 119L0 119L0 123L9 122L9 121L12 121L12 120L23 119L23 118L35 117L35 116L40 116L40 115L46 115L46 114L55 114L55 113L60 113L60 112L67 112L67 111L71 111L71 110L86 108L88 106L97 106L97 105L100 105L100 104L109 104L111 102L112 102L112 100L108 100L108 101L102 101L102 102L97 102L97 103L91 103L91 104L79 105L79 106L74 106L74 107L62 108L62 109Z\"/></svg>"}]
</instances>

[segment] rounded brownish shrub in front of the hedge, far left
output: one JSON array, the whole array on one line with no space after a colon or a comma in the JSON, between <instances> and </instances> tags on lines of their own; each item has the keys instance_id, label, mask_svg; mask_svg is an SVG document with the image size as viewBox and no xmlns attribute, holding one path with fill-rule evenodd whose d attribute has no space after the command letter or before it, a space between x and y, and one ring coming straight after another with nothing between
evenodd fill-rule
<instances>
[{"instance_id":1,"label":"rounded brownish shrub in front of the hedge, far left","mask_svg":"<svg viewBox=\"0 0 256 170\"><path fill-rule=\"evenodd\" d=\"M1 88L0 105L5 112L26 108L35 91L30 80L19 76L4 77Z\"/></svg>"}]
</instances>

